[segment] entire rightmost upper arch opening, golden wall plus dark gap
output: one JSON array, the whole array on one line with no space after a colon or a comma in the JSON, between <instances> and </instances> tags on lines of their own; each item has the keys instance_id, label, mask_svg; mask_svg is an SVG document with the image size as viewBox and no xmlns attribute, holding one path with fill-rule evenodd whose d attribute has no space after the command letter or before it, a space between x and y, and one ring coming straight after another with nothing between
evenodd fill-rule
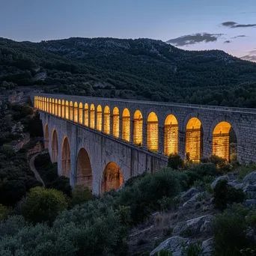
<instances>
[{"instance_id":1,"label":"entire rightmost upper arch opening, golden wall plus dark gap","mask_svg":"<svg viewBox=\"0 0 256 256\"><path fill-rule=\"evenodd\" d=\"M219 122L213 129L213 155L237 160L237 135L227 121Z\"/></svg>"}]
</instances>

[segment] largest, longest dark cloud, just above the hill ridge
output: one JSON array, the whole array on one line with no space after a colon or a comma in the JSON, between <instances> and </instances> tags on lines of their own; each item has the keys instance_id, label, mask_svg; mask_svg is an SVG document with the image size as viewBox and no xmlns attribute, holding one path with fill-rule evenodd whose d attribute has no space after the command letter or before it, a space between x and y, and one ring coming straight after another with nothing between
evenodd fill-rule
<instances>
[{"instance_id":1,"label":"largest, longest dark cloud, just above the hill ridge","mask_svg":"<svg viewBox=\"0 0 256 256\"><path fill-rule=\"evenodd\" d=\"M187 46L195 43L210 43L216 42L218 37L222 34L209 34L209 33L198 33L198 34L187 34L182 37L177 37L168 40L166 43L174 44L174 46Z\"/></svg>"}]
</instances>

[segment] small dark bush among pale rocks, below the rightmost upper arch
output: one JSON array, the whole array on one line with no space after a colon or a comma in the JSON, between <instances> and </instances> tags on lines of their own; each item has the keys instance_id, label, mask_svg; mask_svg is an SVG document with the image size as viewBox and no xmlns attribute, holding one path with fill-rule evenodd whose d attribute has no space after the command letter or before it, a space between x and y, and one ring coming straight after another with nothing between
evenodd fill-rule
<instances>
[{"instance_id":1,"label":"small dark bush among pale rocks, below the rightmost upper arch","mask_svg":"<svg viewBox=\"0 0 256 256\"><path fill-rule=\"evenodd\" d=\"M235 189L228 180L219 180L213 189L213 204L219 210L224 210L228 204L243 202L245 194L242 189Z\"/></svg>"}]
</instances>

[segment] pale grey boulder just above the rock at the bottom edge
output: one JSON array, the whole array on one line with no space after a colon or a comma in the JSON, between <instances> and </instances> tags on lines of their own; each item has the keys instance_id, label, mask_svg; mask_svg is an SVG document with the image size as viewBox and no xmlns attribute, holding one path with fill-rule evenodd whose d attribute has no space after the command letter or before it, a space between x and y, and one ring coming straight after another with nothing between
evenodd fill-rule
<instances>
[{"instance_id":1,"label":"pale grey boulder just above the rock at the bottom edge","mask_svg":"<svg viewBox=\"0 0 256 256\"><path fill-rule=\"evenodd\" d=\"M189 219L186 222L180 222L175 226L174 234L180 234L186 229L189 229L189 232L194 236L199 233L209 233L212 219L213 215L207 214L195 219Z\"/></svg>"}]
</instances>

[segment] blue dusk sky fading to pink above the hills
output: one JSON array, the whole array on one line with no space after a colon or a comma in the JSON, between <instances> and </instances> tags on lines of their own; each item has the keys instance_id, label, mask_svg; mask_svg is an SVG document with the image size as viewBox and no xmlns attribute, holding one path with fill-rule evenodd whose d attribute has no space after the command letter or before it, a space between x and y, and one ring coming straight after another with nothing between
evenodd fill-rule
<instances>
[{"instance_id":1,"label":"blue dusk sky fading to pink above the hills","mask_svg":"<svg viewBox=\"0 0 256 256\"><path fill-rule=\"evenodd\" d=\"M147 37L256 61L256 0L1 0L0 37Z\"/></svg>"}]
</instances>

